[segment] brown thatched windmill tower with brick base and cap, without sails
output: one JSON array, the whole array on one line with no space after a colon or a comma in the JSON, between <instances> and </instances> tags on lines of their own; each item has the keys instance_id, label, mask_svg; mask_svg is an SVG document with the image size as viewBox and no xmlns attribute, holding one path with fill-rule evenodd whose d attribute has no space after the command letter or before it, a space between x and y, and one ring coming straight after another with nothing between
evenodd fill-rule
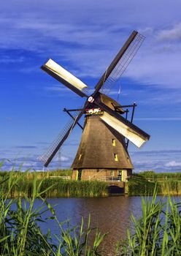
<instances>
[{"instance_id":1,"label":"brown thatched windmill tower with brick base and cap, without sails","mask_svg":"<svg viewBox=\"0 0 181 256\"><path fill-rule=\"evenodd\" d=\"M119 112L124 113L118 102L104 94L101 94L101 102L112 110L115 109L115 105L117 109L119 108ZM80 146L72 164L73 179L102 180L105 177L118 176L125 179L131 174L133 165L125 139L106 124L101 119L102 116L104 110L96 105L88 105Z\"/></svg>"}]
</instances>

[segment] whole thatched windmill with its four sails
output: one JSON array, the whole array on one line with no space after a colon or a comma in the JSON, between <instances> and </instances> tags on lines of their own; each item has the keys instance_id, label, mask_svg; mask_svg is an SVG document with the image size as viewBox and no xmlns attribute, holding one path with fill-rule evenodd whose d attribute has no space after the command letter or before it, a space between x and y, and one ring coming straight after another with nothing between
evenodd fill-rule
<instances>
[{"instance_id":1,"label":"whole thatched windmill with its four sails","mask_svg":"<svg viewBox=\"0 0 181 256\"><path fill-rule=\"evenodd\" d=\"M118 177L122 174L123 179L123 176L131 174L134 167L127 150L128 141L130 140L139 148L149 140L150 135L132 124L135 103L123 106L105 93L118 82L143 40L144 37L137 31L132 32L101 76L93 93L90 93L90 89L85 83L63 69L53 59L49 59L42 65L41 68L53 78L80 97L85 97L85 104L82 108L63 109L72 119L42 155L41 159L44 161L45 167L50 164L72 129L78 124L82 129L82 138L72 164L72 178L98 179L106 176ZM123 117L125 113L127 117L128 113L128 109L125 111L123 108L128 107L133 108L131 121ZM79 121L83 115L85 115L85 123L82 127Z\"/></svg>"}]
</instances>

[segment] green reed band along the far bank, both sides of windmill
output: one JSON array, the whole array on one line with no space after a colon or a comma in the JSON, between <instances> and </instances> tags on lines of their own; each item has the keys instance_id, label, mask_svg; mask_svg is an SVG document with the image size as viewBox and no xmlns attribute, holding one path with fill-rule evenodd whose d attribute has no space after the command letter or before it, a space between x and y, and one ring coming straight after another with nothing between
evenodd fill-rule
<instances>
[{"instance_id":1,"label":"green reed band along the far bank, both sides of windmill","mask_svg":"<svg viewBox=\"0 0 181 256\"><path fill-rule=\"evenodd\" d=\"M0 181L19 178L23 172L1 172ZM18 185L11 189L10 197L31 197L33 193L34 180L41 192L50 187L42 194L43 197L105 197L109 196L109 184L101 181L72 181L72 170L55 170L46 172L26 172L23 174ZM3 183L4 192L7 192L8 181ZM125 194L153 195L155 186L158 195L181 195L181 173L154 173L142 172L128 178L125 184Z\"/></svg>"}]
</instances>

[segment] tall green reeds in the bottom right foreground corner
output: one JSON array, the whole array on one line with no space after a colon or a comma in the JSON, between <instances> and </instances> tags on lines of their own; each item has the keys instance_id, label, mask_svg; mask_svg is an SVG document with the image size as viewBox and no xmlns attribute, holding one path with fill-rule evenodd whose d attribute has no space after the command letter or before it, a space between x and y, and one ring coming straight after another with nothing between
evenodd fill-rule
<instances>
[{"instance_id":1,"label":"tall green reeds in the bottom right foreground corner","mask_svg":"<svg viewBox=\"0 0 181 256\"><path fill-rule=\"evenodd\" d=\"M118 244L117 255L179 256L181 255L181 203L169 197L166 203L142 198L142 217L131 220L134 234L127 230L127 241Z\"/></svg>"}]
</instances>

